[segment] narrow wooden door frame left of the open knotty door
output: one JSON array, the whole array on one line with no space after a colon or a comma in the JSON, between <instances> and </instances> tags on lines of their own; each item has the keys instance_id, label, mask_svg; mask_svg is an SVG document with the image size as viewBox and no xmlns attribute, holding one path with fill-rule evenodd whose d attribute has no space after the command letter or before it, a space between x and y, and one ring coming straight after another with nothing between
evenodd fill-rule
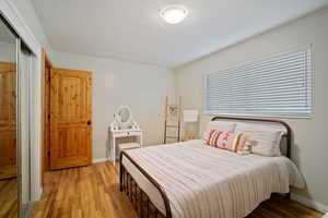
<instances>
[{"instance_id":1,"label":"narrow wooden door frame left of the open knotty door","mask_svg":"<svg viewBox=\"0 0 328 218\"><path fill-rule=\"evenodd\" d=\"M52 62L47 55L46 50L42 50L42 185L44 186L44 174L46 171L49 171L49 157L48 157L48 150L49 150L49 143L46 142L46 132L50 132L50 125L46 123L46 120L48 119L48 114L50 114L49 107L46 107L46 102L50 101L50 86L47 86L47 83L49 84L50 80L50 71L47 71L46 69L52 69ZM47 81L48 78L48 81ZM48 88L48 92L46 89ZM48 94L48 95L46 95Z\"/></svg>"}]
</instances>

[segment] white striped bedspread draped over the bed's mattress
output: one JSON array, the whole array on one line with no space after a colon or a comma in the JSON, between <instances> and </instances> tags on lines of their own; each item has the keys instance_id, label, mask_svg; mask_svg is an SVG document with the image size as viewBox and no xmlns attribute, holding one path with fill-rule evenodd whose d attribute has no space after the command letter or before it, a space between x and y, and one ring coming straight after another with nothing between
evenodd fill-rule
<instances>
[{"instance_id":1,"label":"white striped bedspread draped over the bed's mattress","mask_svg":"<svg viewBox=\"0 0 328 218\"><path fill-rule=\"evenodd\" d=\"M201 141L128 154L163 186L175 218L242 218L271 193L288 193L290 185L305 186L296 166L285 157L243 156ZM137 178L137 182L142 180ZM165 215L163 202L148 194Z\"/></svg>"}]
</instances>

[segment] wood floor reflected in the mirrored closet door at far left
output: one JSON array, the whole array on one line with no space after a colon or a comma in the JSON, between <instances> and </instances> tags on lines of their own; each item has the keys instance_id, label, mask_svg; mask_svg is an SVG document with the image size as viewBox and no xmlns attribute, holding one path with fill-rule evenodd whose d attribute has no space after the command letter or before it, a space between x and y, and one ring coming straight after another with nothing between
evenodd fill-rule
<instances>
[{"instance_id":1,"label":"wood floor reflected in the mirrored closet door at far left","mask_svg":"<svg viewBox=\"0 0 328 218\"><path fill-rule=\"evenodd\" d=\"M0 180L0 218L17 217L16 179Z\"/></svg>"}]
</instances>

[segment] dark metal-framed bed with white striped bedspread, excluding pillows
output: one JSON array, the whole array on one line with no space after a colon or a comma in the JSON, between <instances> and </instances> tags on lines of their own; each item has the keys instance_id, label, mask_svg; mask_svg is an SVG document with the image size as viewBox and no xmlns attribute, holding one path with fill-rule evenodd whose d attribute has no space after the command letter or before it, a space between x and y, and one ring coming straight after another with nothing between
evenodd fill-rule
<instances>
[{"instance_id":1,"label":"dark metal-framed bed with white striped bedspread, excluding pillows","mask_svg":"<svg viewBox=\"0 0 328 218\"><path fill-rule=\"evenodd\" d=\"M201 140L150 146L120 155L120 191L140 217L223 217L250 214L272 193L290 196L290 186L304 187L304 179L290 160L292 135L285 129L285 156L265 157L203 145Z\"/></svg>"}]
</instances>

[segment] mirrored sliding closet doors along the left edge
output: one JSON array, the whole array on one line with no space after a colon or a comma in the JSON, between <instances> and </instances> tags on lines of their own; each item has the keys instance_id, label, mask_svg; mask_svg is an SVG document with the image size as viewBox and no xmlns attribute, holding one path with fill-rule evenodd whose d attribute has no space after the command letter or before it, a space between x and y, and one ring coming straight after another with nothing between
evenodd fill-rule
<instances>
[{"instance_id":1,"label":"mirrored sliding closet doors along the left edge","mask_svg":"<svg viewBox=\"0 0 328 218\"><path fill-rule=\"evenodd\" d=\"M31 57L1 16L0 218L26 217L31 204Z\"/></svg>"}]
</instances>

